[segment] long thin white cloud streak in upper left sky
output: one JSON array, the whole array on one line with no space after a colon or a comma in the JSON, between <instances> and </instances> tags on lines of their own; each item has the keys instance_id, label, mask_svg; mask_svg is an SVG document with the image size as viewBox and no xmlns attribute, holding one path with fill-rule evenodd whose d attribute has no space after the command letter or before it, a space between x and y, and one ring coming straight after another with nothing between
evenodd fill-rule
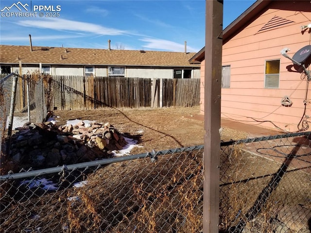
<instances>
[{"instance_id":1,"label":"long thin white cloud streak in upper left sky","mask_svg":"<svg viewBox=\"0 0 311 233\"><path fill-rule=\"evenodd\" d=\"M43 28L58 31L65 30L73 32L92 33L103 36L104 35L118 36L130 34L130 32L128 31L123 31L114 28L107 28L94 23L86 23L61 18L48 18L45 20L26 19L18 21L17 24L24 27Z\"/></svg>"}]
</instances>

